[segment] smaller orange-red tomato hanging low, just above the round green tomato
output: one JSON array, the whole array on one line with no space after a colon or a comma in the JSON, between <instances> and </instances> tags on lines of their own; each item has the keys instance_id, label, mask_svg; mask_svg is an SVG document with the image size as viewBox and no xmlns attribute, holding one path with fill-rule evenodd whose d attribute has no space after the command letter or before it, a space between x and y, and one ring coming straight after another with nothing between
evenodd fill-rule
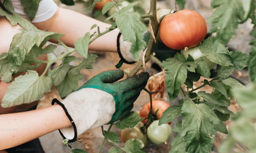
<instances>
[{"instance_id":1,"label":"smaller orange-red tomato hanging low, just above the round green tomato","mask_svg":"<svg viewBox=\"0 0 256 153\"><path fill-rule=\"evenodd\" d=\"M161 116L163 115L163 112L168 107L170 107L170 105L168 105L164 101L160 101L160 100L152 101L152 112L153 112L153 114L157 115L158 120L161 118ZM139 116L141 116L141 118L145 119L149 115L149 111L150 111L150 102L146 103L142 107L141 111L139 112ZM147 119L142 120L142 122L146 123ZM169 124L171 124L171 122Z\"/></svg>"}]
</instances>

